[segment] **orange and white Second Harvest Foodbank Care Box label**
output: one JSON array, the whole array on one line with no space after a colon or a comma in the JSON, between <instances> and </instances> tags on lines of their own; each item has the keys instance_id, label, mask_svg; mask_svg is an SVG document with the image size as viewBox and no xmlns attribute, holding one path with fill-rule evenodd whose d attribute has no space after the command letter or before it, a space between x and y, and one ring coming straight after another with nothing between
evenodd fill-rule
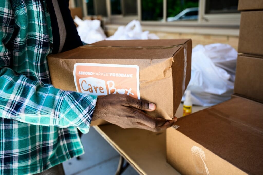
<instances>
[{"instance_id":1,"label":"orange and white Second Harvest Foodbank Care Box label","mask_svg":"<svg viewBox=\"0 0 263 175\"><path fill-rule=\"evenodd\" d=\"M137 65L76 63L74 81L77 92L96 96L119 93L140 99Z\"/></svg>"}]
</instances>

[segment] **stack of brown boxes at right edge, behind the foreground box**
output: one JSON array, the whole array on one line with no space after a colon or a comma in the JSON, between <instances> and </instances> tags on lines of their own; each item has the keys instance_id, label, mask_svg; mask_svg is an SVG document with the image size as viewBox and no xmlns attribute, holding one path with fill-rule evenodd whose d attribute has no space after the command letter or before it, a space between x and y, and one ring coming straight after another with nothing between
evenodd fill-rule
<instances>
[{"instance_id":1,"label":"stack of brown boxes at right edge, behind the foreground box","mask_svg":"<svg viewBox=\"0 0 263 175\"><path fill-rule=\"evenodd\" d=\"M234 93L263 103L263 1L239 0L241 11Z\"/></svg>"}]
</instances>

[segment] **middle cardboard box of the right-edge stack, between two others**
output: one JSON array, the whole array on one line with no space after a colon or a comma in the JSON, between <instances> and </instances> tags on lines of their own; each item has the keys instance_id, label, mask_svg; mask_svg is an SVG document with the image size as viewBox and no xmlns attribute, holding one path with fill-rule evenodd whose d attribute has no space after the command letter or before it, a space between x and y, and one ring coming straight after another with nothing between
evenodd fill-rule
<instances>
[{"instance_id":1,"label":"middle cardboard box of the right-edge stack, between two others","mask_svg":"<svg viewBox=\"0 0 263 175\"><path fill-rule=\"evenodd\" d=\"M238 52L263 55L263 11L241 12Z\"/></svg>"}]
</instances>

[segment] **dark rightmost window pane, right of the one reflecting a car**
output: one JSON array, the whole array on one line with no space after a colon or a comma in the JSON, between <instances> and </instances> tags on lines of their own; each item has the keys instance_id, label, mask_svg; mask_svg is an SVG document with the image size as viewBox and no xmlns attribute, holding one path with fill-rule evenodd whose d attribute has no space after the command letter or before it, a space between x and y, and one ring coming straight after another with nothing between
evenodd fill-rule
<instances>
[{"instance_id":1,"label":"dark rightmost window pane, right of the one reflecting a car","mask_svg":"<svg viewBox=\"0 0 263 175\"><path fill-rule=\"evenodd\" d=\"M239 13L237 5L238 0L206 0L205 13Z\"/></svg>"}]
</instances>

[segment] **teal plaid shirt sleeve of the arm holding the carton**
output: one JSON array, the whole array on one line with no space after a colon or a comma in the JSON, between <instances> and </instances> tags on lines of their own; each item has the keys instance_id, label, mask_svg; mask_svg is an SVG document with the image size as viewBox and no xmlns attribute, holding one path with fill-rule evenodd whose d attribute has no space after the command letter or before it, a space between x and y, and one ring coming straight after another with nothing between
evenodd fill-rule
<instances>
[{"instance_id":1,"label":"teal plaid shirt sleeve of the arm holding the carton","mask_svg":"<svg viewBox=\"0 0 263 175\"><path fill-rule=\"evenodd\" d=\"M35 125L77 127L89 131L97 97L62 91L14 72L6 47L13 33L14 16L8 3L0 5L0 116Z\"/></svg>"}]
</instances>

